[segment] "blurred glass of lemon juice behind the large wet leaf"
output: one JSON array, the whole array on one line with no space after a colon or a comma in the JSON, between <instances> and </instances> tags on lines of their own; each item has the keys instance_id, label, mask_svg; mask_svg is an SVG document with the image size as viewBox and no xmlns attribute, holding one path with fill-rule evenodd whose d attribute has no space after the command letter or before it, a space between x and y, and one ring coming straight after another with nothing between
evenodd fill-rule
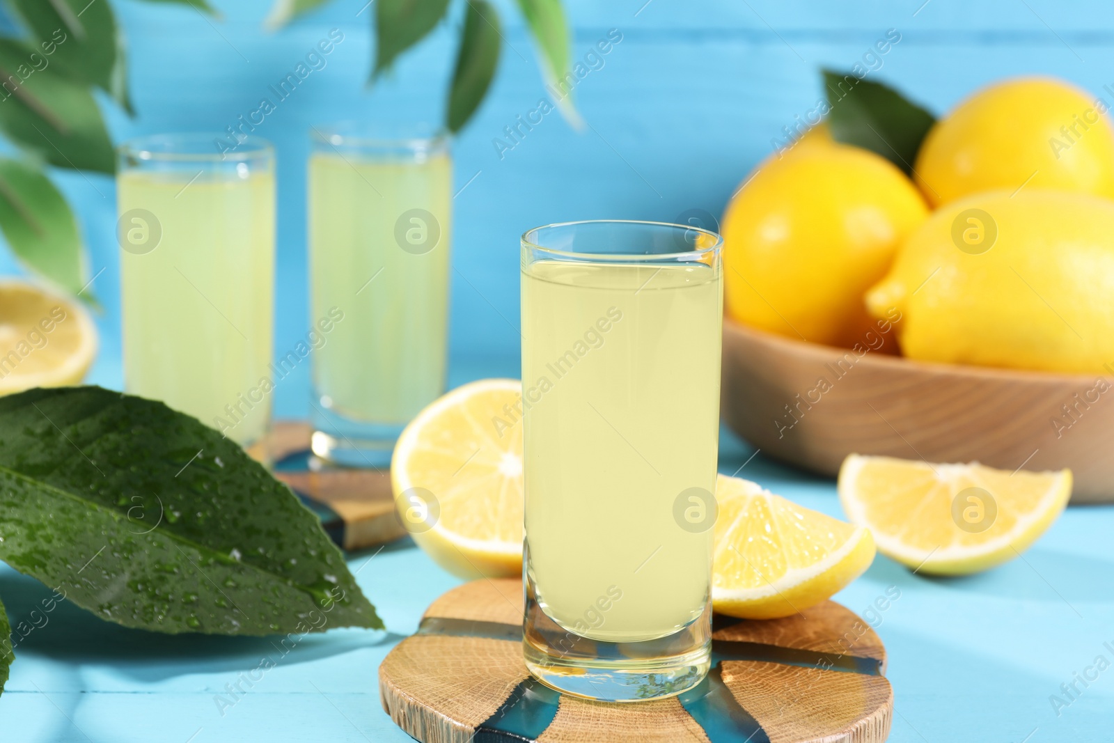
<instances>
[{"instance_id":1,"label":"blurred glass of lemon juice behind the large wet leaf","mask_svg":"<svg viewBox=\"0 0 1114 743\"><path fill-rule=\"evenodd\" d=\"M124 381L248 446L271 418L274 150L218 138L119 149Z\"/></svg>"}]
</instances>

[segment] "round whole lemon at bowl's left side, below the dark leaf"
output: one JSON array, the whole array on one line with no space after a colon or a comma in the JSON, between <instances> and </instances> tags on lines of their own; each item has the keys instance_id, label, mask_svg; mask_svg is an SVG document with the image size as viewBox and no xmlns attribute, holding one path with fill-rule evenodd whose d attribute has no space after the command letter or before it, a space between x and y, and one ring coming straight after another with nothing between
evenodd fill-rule
<instances>
[{"instance_id":1,"label":"round whole lemon at bowl's left side, below the dark leaf","mask_svg":"<svg viewBox=\"0 0 1114 743\"><path fill-rule=\"evenodd\" d=\"M723 217L727 313L790 338L862 343L873 325L863 292L927 215L912 182L866 149L818 141L774 155Z\"/></svg>"}]
</instances>

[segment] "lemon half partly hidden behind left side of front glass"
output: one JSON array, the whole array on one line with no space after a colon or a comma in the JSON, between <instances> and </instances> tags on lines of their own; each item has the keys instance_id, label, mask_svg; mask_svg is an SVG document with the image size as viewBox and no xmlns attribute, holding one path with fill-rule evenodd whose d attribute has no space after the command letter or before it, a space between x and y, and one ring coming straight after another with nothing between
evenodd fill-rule
<instances>
[{"instance_id":1,"label":"lemon half partly hidden behind left side of front glass","mask_svg":"<svg viewBox=\"0 0 1114 743\"><path fill-rule=\"evenodd\" d=\"M512 379L459 387L418 413L394 447L399 518L453 575L522 573L521 392Z\"/></svg>"}]
</instances>

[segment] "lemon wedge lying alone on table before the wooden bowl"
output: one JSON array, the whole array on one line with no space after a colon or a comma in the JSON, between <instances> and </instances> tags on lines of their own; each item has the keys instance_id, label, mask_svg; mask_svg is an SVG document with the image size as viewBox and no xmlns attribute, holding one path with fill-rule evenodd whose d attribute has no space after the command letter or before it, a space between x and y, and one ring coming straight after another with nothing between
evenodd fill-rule
<instances>
[{"instance_id":1,"label":"lemon wedge lying alone on table before the wooden bowl","mask_svg":"<svg viewBox=\"0 0 1114 743\"><path fill-rule=\"evenodd\" d=\"M839 498L878 549L920 573L965 575L1016 557L1072 495L1072 471L1009 472L850 454Z\"/></svg>"}]
</instances>

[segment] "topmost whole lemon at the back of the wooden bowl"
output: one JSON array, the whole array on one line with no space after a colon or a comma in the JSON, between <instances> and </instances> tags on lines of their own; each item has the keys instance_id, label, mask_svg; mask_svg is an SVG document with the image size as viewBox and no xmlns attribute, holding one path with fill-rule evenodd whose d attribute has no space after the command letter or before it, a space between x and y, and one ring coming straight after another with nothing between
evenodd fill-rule
<instances>
[{"instance_id":1,"label":"topmost whole lemon at the back of the wooden bowl","mask_svg":"<svg viewBox=\"0 0 1114 743\"><path fill-rule=\"evenodd\" d=\"M985 88L929 129L913 177L935 207L983 190L1043 187L1114 197L1108 105L1053 78Z\"/></svg>"}]
</instances>

